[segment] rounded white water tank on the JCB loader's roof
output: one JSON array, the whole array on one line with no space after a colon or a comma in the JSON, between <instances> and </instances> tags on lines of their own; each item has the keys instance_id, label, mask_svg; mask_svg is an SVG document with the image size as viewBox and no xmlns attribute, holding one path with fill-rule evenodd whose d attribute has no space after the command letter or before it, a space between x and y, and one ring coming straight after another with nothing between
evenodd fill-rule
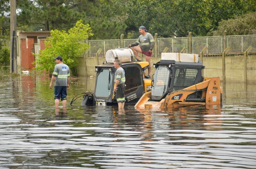
<instances>
[{"instance_id":1,"label":"rounded white water tank on the JCB loader's roof","mask_svg":"<svg viewBox=\"0 0 256 169\"><path fill-rule=\"evenodd\" d=\"M108 63L114 63L115 58L118 57L121 63L132 62L133 52L130 48L117 47L116 49L110 49L106 52L105 58Z\"/></svg>"}]
</instances>

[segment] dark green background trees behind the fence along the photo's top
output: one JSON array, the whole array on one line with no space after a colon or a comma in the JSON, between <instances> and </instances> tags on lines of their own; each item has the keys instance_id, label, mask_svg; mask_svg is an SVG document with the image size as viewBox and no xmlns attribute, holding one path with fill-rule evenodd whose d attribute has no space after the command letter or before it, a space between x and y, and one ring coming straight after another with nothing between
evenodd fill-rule
<instances>
[{"instance_id":1,"label":"dark green background trees behind the fence along the photo's top","mask_svg":"<svg viewBox=\"0 0 256 169\"><path fill-rule=\"evenodd\" d=\"M222 20L255 12L255 0L16 0L17 29L65 30L82 19L95 32L92 39L137 38L138 27L161 37L210 36ZM0 3L8 28L9 0ZM135 33L134 33L135 32ZM2 31L8 33L8 31Z\"/></svg>"}]
</instances>

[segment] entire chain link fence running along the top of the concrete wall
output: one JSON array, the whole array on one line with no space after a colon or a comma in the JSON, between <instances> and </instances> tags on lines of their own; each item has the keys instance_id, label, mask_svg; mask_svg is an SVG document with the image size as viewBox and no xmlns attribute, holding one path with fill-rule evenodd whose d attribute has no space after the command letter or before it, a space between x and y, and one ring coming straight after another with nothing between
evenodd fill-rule
<instances>
[{"instance_id":1,"label":"entire chain link fence running along the top of the concrete wall","mask_svg":"<svg viewBox=\"0 0 256 169\"><path fill-rule=\"evenodd\" d=\"M252 46L251 52L256 52L256 35L241 35L241 36L227 36L226 46L230 47L229 53L243 53L245 50ZM123 46L128 47L137 39L124 39ZM155 57L161 57L162 52L172 53L189 53L188 51L188 38L158 38L157 39L157 53L153 53ZM114 40L89 40L91 46L88 56L89 57L105 57L105 53L109 49L115 49L121 44L120 39ZM207 47L208 55L218 55L223 52L223 36L211 37L192 37L191 38L191 52L200 54L204 47ZM155 50L154 50L155 51Z\"/></svg>"}]
</instances>

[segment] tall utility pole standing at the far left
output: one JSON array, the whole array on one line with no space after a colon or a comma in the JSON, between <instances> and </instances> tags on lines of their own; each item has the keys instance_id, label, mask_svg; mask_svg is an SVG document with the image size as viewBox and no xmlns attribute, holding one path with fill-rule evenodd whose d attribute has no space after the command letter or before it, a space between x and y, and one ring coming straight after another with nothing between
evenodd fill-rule
<instances>
[{"instance_id":1,"label":"tall utility pole standing at the far left","mask_svg":"<svg viewBox=\"0 0 256 169\"><path fill-rule=\"evenodd\" d=\"M17 73L17 20L16 20L16 0L11 0L10 15L10 73Z\"/></svg>"}]
</instances>

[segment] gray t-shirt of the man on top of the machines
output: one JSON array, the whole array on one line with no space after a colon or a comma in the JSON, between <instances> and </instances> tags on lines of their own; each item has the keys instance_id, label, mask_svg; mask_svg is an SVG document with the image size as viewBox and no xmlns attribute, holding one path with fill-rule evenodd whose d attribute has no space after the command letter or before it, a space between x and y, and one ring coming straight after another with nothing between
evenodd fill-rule
<instances>
[{"instance_id":1,"label":"gray t-shirt of the man on top of the machines","mask_svg":"<svg viewBox=\"0 0 256 169\"><path fill-rule=\"evenodd\" d=\"M145 35L140 35L138 40L132 43L132 46L140 45L142 51L148 52L150 49L153 49L155 46L155 40L150 33L146 33Z\"/></svg>"}]
</instances>

